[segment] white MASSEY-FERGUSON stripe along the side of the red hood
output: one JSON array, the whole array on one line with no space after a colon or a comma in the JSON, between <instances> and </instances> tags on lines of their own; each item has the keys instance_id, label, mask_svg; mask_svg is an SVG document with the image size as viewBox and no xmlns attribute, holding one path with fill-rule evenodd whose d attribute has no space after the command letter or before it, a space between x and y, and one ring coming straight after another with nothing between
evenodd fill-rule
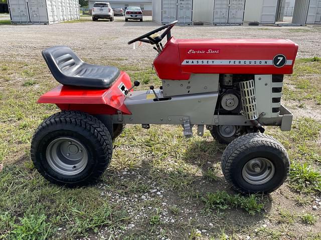
<instances>
[{"instance_id":1,"label":"white MASSEY-FERGUSON stripe along the side of the red hood","mask_svg":"<svg viewBox=\"0 0 321 240\"><path fill-rule=\"evenodd\" d=\"M281 54L275 56L280 57ZM185 59L182 65L274 65L276 67L282 67L284 65L292 65L292 60L284 58L276 58L278 61L273 60L226 60L226 59ZM274 64L278 63L278 64Z\"/></svg>"}]
</instances>

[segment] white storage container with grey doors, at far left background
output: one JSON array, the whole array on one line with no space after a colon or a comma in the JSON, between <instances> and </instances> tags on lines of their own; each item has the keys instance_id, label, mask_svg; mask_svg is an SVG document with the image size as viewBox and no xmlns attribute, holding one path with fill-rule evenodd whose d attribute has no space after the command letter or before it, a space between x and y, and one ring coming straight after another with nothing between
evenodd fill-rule
<instances>
[{"instance_id":1,"label":"white storage container with grey doors, at far left background","mask_svg":"<svg viewBox=\"0 0 321 240\"><path fill-rule=\"evenodd\" d=\"M12 23L52 24L80 18L78 0L8 0Z\"/></svg>"}]
</instances>

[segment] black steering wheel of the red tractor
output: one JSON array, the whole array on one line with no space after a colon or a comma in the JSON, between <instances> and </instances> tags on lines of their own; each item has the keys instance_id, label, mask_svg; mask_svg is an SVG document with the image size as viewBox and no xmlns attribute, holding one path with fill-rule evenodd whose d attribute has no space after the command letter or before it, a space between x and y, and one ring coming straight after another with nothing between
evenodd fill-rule
<instances>
[{"instance_id":1,"label":"black steering wheel of the red tractor","mask_svg":"<svg viewBox=\"0 0 321 240\"><path fill-rule=\"evenodd\" d=\"M150 44L157 44L160 41L163 40L163 38L167 35L167 39L169 40L171 38L171 29L173 28L173 26L175 26L175 24L178 22L178 20L176 21L172 21L164 26L158 27L155 30L152 30L150 32L147 32L146 34L143 34L141 36L136 37L135 39L132 39L130 41L128 41L128 44L134 43L136 41L142 41L142 42L147 42ZM157 33L158 31L164 30L166 29L162 34L160 35L156 35L156 36L151 36L152 34Z\"/></svg>"}]
</instances>

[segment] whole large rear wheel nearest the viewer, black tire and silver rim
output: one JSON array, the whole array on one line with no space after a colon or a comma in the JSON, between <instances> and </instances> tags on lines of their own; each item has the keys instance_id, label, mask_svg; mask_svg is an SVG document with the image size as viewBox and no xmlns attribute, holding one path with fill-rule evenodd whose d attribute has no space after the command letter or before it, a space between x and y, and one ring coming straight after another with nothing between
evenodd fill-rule
<instances>
[{"instance_id":1,"label":"whole large rear wheel nearest the viewer, black tire and silver rim","mask_svg":"<svg viewBox=\"0 0 321 240\"><path fill-rule=\"evenodd\" d=\"M52 183L81 186L96 180L112 156L106 126L84 112L61 111L44 120L31 143L36 169Z\"/></svg>"}]
</instances>

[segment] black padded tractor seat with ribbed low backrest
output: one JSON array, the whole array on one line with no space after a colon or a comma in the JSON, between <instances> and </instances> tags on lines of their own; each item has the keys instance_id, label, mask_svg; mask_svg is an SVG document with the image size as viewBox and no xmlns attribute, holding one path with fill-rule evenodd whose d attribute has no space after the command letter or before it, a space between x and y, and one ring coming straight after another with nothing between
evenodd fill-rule
<instances>
[{"instance_id":1,"label":"black padded tractor seat with ribbed low backrest","mask_svg":"<svg viewBox=\"0 0 321 240\"><path fill-rule=\"evenodd\" d=\"M114 66L100 66L83 62L67 46L54 46L42 51L47 65L61 84L108 88L120 71Z\"/></svg>"}]
</instances>

